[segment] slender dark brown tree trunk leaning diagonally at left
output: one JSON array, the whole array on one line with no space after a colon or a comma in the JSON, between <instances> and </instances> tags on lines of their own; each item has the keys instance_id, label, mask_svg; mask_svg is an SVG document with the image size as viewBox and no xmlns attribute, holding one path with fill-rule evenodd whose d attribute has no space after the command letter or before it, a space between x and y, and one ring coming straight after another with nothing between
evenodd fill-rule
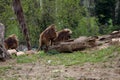
<instances>
[{"instance_id":1,"label":"slender dark brown tree trunk leaning diagonally at left","mask_svg":"<svg viewBox=\"0 0 120 80\"><path fill-rule=\"evenodd\" d=\"M28 48L28 50L30 50L31 44L30 44L28 29L27 29L27 25L26 25L26 21L24 18L23 9L22 9L22 5L21 5L20 0L13 0L13 9L14 9L14 12L17 16L19 24L21 26L23 35L26 39L27 48Z\"/></svg>"}]
</instances>

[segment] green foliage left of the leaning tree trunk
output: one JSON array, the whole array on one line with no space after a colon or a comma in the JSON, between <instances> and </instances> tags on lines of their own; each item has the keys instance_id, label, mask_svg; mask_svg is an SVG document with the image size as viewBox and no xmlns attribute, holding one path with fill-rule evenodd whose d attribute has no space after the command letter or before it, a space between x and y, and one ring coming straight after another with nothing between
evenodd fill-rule
<instances>
[{"instance_id":1,"label":"green foliage left of the leaning tree trunk","mask_svg":"<svg viewBox=\"0 0 120 80\"><path fill-rule=\"evenodd\" d=\"M12 1L0 1L0 22L5 25L5 37L8 37L11 34L16 34L19 40L23 40L21 30L19 28L18 22L16 20L16 16L12 10ZM1 10L2 9L2 10Z\"/></svg>"}]
</instances>

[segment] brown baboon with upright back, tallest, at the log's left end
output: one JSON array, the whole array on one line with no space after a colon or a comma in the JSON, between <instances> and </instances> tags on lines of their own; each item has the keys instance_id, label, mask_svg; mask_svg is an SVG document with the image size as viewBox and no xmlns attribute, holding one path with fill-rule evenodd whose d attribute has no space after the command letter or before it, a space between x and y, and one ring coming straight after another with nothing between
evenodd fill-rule
<instances>
[{"instance_id":1,"label":"brown baboon with upright back, tallest, at the log's left end","mask_svg":"<svg viewBox=\"0 0 120 80\"><path fill-rule=\"evenodd\" d=\"M40 34L38 50L41 49L47 51L48 47L52 45L52 42L56 36L56 26L52 24Z\"/></svg>"}]
</instances>

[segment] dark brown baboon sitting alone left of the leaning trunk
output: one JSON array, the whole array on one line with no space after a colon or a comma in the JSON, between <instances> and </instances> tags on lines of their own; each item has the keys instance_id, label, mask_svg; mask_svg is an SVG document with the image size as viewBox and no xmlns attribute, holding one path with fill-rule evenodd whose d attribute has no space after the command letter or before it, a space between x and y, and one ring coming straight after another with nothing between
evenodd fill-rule
<instances>
[{"instance_id":1,"label":"dark brown baboon sitting alone left of the leaning trunk","mask_svg":"<svg viewBox=\"0 0 120 80\"><path fill-rule=\"evenodd\" d=\"M18 47L18 38L15 34L10 35L7 39L4 40L5 48L16 49Z\"/></svg>"}]
</instances>

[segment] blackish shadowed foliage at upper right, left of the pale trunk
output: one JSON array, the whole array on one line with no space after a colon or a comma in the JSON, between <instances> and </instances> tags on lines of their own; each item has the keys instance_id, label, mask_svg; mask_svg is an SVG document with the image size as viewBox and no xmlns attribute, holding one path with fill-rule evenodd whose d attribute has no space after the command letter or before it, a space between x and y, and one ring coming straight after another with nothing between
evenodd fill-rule
<instances>
[{"instance_id":1,"label":"blackish shadowed foliage at upper right, left of the pale trunk","mask_svg":"<svg viewBox=\"0 0 120 80\"><path fill-rule=\"evenodd\" d=\"M96 0L95 13L100 24L108 24L109 19L114 20L115 0Z\"/></svg>"}]
</instances>

